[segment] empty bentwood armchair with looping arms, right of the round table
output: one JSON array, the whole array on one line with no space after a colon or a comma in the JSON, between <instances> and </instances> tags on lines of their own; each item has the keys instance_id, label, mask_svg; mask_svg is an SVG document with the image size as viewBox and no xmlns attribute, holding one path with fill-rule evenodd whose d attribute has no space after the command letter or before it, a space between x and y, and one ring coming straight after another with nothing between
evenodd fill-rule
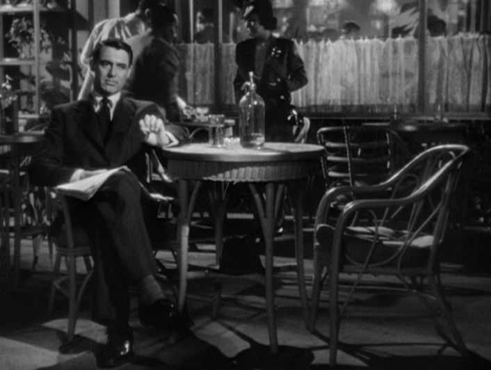
<instances>
[{"instance_id":1,"label":"empty bentwood armchair with looping arms, right of the round table","mask_svg":"<svg viewBox=\"0 0 491 370\"><path fill-rule=\"evenodd\" d=\"M326 191L314 229L311 328L314 330L321 285L327 276L331 366L337 361L341 316L355 298L363 299L355 291L362 290L371 275L395 276L402 290L396 291L393 284L389 287L377 279L380 282L370 286L370 292L381 289L385 293L415 293L433 316L437 332L450 346L467 354L442 289L439 252L445 246L447 226L456 211L453 195L468 154L465 145L432 147L380 184ZM383 191L387 196L380 198ZM346 203L340 212L335 209L333 218L333 201L341 195ZM341 273L354 274L346 282L347 291L340 287ZM383 307L377 309L383 312Z\"/></svg>"}]
</instances>

